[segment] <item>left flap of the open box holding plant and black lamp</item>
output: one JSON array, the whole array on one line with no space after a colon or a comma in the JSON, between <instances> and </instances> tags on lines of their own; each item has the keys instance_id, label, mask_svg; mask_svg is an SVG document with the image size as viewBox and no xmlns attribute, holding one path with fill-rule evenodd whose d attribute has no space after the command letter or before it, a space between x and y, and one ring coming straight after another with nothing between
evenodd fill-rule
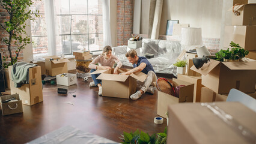
<instances>
[{"instance_id":1,"label":"left flap of the open box holding plant and black lamp","mask_svg":"<svg viewBox=\"0 0 256 144\"><path fill-rule=\"evenodd\" d=\"M204 74L204 76L206 76L208 73L210 73L210 71L213 70L213 68L215 68L218 64L220 63L220 61L215 61L213 59L210 59L210 62L207 62L206 64L203 65L203 67L201 67L199 70L195 67L195 65L193 65L190 70L194 70L197 73L201 73Z\"/></svg>"}]
</instances>

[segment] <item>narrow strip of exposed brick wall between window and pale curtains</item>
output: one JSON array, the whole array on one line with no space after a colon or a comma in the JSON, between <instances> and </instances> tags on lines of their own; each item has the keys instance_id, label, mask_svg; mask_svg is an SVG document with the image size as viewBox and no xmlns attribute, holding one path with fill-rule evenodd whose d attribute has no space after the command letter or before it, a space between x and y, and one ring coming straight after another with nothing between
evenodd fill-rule
<instances>
[{"instance_id":1,"label":"narrow strip of exposed brick wall between window and pale curtains","mask_svg":"<svg viewBox=\"0 0 256 144\"><path fill-rule=\"evenodd\" d=\"M133 0L117 0L117 46L127 45L133 31Z\"/></svg>"}]
</instances>

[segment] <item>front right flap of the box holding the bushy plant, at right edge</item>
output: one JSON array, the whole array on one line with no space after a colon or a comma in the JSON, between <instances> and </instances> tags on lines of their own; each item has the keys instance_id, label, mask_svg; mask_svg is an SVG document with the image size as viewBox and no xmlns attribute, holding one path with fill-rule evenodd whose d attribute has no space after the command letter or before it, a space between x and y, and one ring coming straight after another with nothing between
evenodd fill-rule
<instances>
[{"instance_id":1,"label":"front right flap of the box holding the bushy plant, at right edge","mask_svg":"<svg viewBox=\"0 0 256 144\"><path fill-rule=\"evenodd\" d=\"M256 61L248 62L222 62L230 70L256 70Z\"/></svg>"}]
</instances>

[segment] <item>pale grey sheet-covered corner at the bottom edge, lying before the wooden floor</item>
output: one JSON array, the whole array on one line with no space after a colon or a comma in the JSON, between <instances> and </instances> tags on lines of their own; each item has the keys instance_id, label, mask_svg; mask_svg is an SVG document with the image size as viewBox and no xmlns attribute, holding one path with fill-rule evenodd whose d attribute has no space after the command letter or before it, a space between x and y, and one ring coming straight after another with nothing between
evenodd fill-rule
<instances>
[{"instance_id":1,"label":"pale grey sheet-covered corner at the bottom edge, lying before the wooden floor","mask_svg":"<svg viewBox=\"0 0 256 144\"><path fill-rule=\"evenodd\" d=\"M105 139L104 137L100 137L95 134L85 133L84 131L78 130L71 126L59 128L58 130L52 131L51 133L41 136L38 139L28 142L28 144L32 144L32 143L47 143L47 144L107 143L107 144L117 144L117 142L114 142L112 140Z\"/></svg>"}]
</instances>

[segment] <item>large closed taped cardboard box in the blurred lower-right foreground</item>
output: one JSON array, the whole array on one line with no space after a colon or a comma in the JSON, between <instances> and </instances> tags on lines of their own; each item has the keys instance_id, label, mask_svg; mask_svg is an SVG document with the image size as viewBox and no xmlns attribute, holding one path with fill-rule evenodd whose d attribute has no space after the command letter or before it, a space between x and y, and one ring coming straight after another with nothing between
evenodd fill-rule
<instances>
[{"instance_id":1,"label":"large closed taped cardboard box in the blurred lower-right foreground","mask_svg":"<svg viewBox=\"0 0 256 144\"><path fill-rule=\"evenodd\" d=\"M243 130L256 134L256 113L239 102L216 102L219 109L232 116ZM248 143L236 122L227 124L201 103L183 103L168 108L167 143L226 144ZM229 117L231 117L229 116ZM234 126L233 126L234 125ZM240 126L240 127L241 127ZM244 133L244 132L243 132ZM254 142L255 143L255 139Z\"/></svg>"}]
</instances>

